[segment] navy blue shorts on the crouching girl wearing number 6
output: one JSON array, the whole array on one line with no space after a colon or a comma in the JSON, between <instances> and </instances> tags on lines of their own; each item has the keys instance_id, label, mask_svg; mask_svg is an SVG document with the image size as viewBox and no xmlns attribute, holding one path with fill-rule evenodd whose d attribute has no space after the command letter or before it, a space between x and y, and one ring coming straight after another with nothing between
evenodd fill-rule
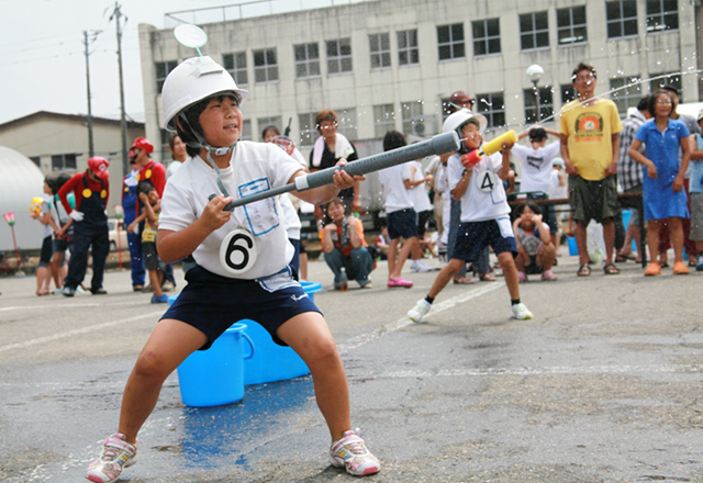
<instances>
[{"instance_id":1,"label":"navy blue shorts on the crouching girl wearing number 6","mask_svg":"<svg viewBox=\"0 0 703 483\"><path fill-rule=\"evenodd\" d=\"M248 318L256 321L279 346L278 327L304 312L320 312L305 290L295 282L291 287L268 292L254 280L230 279L200 266L186 273L188 284L164 318L175 318L196 327L208 336L200 350L208 349L230 326Z\"/></svg>"}]
</instances>

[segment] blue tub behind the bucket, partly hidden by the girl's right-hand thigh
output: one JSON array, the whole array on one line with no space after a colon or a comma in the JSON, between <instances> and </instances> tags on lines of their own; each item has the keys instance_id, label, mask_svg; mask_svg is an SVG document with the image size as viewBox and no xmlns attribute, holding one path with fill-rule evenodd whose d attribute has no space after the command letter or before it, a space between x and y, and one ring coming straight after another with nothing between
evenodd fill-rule
<instances>
[{"instance_id":1,"label":"blue tub behind the bucket, partly hidden by the girl's right-hand thigh","mask_svg":"<svg viewBox=\"0 0 703 483\"><path fill-rule=\"evenodd\" d=\"M300 282L308 296L314 302L314 294L322 290L317 282ZM310 374L310 369L290 347L274 342L271 335L254 321L246 323L246 335L256 345L256 353L244 361L244 384L265 384L267 382L287 381Z\"/></svg>"}]
</instances>

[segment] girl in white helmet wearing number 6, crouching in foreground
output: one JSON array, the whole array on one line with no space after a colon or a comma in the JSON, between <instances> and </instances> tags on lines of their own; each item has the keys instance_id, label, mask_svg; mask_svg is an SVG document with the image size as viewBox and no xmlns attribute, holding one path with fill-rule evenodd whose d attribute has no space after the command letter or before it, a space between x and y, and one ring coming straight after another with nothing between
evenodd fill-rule
<instances>
[{"instance_id":1,"label":"girl in white helmet wearing number 6, crouching in foreground","mask_svg":"<svg viewBox=\"0 0 703 483\"><path fill-rule=\"evenodd\" d=\"M192 254L188 284L161 317L140 355L122 400L119 431L88 469L94 482L113 482L135 462L137 433L156 405L166 378L194 350L207 349L231 325L248 318L308 364L317 405L332 436L330 456L355 475L379 471L379 461L350 430L346 374L322 314L289 267L281 206L269 198L233 211L234 199L293 182L304 175L295 160L267 143L238 142L239 105L247 92L210 57L185 60L166 78L165 124L191 156L168 180L161 200L158 252L165 262ZM341 160L343 166L346 160ZM334 184L294 193L324 203L364 177L344 171ZM216 194L209 200L209 195Z\"/></svg>"}]
</instances>

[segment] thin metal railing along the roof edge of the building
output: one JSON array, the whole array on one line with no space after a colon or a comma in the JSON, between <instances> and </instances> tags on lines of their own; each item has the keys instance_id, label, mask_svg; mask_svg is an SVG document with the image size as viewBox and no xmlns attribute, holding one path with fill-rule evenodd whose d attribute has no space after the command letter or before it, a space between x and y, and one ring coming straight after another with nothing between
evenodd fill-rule
<instances>
[{"instance_id":1,"label":"thin metal railing along the roof edge of the building","mask_svg":"<svg viewBox=\"0 0 703 483\"><path fill-rule=\"evenodd\" d=\"M182 23L203 25L207 23L227 22L275 15L301 10L323 9L373 0L257 0L223 7L181 10L164 14L164 27L172 29Z\"/></svg>"}]
</instances>

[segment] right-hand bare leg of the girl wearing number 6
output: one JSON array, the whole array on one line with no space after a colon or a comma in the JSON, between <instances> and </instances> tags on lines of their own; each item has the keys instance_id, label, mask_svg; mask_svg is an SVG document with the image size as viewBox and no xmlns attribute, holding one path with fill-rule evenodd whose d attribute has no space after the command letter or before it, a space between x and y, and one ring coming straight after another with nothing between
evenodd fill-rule
<instances>
[{"instance_id":1,"label":"right-hand bare leg of the girl wearing number 6","mask_svg":"<svg viewBox=\"0 0 703 483\"><path fill-rule=\"evenodd\" d=\"M349 387L339 351L324 317L305 312L286 322L277 330L308 364L315 385L317 407L327 422L332 440L342 439L352 428Z\"/></svg>"}]
</instances>

